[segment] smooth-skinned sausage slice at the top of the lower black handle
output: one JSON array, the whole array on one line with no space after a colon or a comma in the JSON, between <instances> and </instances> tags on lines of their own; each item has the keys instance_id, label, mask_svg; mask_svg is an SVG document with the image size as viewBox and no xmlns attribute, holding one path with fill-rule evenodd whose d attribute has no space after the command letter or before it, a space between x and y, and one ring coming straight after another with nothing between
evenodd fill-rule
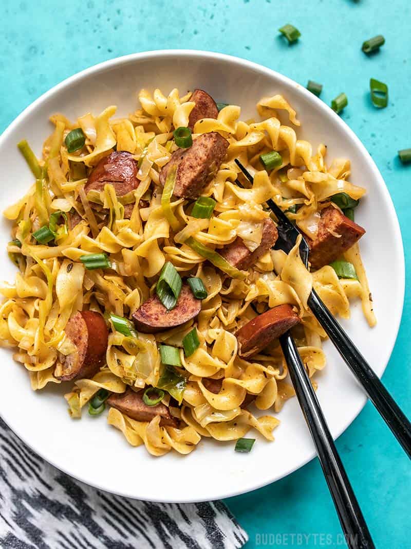
<instances>
[{"instance_id":1,"label":"smooth-skinned sausage slice at the top of the lower black handle","mask_svg":"<svg viewBox=\"0 0 411 549\"><path fill-rule=\"evenodd\" d=\"M290 305L279 305L253 318L236 333L239 355L254 355L298 322L300 318Z\"/></svg>"}]
</instances>

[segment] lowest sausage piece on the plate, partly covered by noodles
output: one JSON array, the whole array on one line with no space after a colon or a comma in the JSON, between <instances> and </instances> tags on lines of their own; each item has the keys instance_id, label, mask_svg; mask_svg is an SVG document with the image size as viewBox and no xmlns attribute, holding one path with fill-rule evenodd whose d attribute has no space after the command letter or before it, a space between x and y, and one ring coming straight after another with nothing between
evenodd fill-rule
<instances>
[{"instance_id":1,"label":"lowest sausage piece on the plate, partly covered by noodles","mask_svg":"<svg viewBox=\"0 0 411 549\"><path fill-rule=\"evenodd\" d=\"M160 425L178 427L178 420L170 414L167 406L164 406L161 402L156 406L147 406L142 400L143 394L144 390L136 393L128 388L125 393L120 395L115 393L110 395L107 404L136 421L151 421L156 416L161 416Z\"/></svg>"}]
</instances>

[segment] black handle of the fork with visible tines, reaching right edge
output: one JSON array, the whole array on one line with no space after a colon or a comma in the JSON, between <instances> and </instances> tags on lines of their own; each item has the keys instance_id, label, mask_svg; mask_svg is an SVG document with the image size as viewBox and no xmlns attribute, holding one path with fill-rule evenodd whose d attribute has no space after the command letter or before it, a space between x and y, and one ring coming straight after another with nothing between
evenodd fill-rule
<instances>
[{"instance_id":1,"label":"black handle of the fork with visible tines, reaching right edge","mask_svg":"<svg viewBox=\"0 0 411 549\"><path fill-rule=\"evenodd\" d=\"M365 389L370 401L384 418L385 423L396 436L408 457L411 458L411 423L401 408L314 289L311 291L308 304L351 372Z\"/></svg>"}]
</instances>

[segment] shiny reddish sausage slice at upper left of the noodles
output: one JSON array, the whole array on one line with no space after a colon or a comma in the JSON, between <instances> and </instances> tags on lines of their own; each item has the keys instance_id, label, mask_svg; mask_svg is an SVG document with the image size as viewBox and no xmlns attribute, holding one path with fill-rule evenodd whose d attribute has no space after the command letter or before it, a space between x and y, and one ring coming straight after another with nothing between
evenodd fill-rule
<instances>
[{"instance_id":1,"label":"shiny reddish sausage slice at upper left of the noodles","mask_svg":"<svg viewBox=\"0 0 411 549\"><path fill-rule=\"evenodd\" d=\"M116 150L102 158L90 173L84 191L102 191L106 183L111 183L118 197L139 186L138 165L133 156L125 150Z\"/></svg>"}]
</instances>

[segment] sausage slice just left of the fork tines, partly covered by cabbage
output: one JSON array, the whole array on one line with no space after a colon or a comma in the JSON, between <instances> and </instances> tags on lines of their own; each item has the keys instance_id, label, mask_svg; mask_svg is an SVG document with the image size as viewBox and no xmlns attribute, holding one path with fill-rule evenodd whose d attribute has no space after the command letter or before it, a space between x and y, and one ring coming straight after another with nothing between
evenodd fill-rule
<instances>
[{"instance_id":1,"label":"sausage slice just left of the fork tines, partly covered by cabbage","mask_svg":"<svg viewBox=\"0 0 411 549\"><path fill-rule=\"evenodd\" d=\"M254 265L254 263L270 250L278 238L277 227L271 217L264 220L262 226L261 243L254 251L250 251L243 243L242 239L237 237L234 242L227 244L219 250L220 255L224 257L233 267L244 270Z\"/></svg>"}]
</instances>

